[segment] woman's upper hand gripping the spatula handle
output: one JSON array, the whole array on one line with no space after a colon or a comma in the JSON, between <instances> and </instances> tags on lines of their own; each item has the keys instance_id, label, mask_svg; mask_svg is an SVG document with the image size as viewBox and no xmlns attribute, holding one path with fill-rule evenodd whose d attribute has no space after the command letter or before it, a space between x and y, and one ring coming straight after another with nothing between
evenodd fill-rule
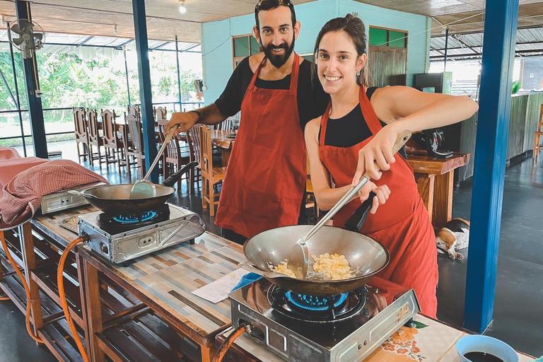
<instances>
[{"instance_id":1,"label":"woman's upper hand gripping the spatula handle","mask_svg":"<svg viewBox=\"0 0 543 362\"><path fill-rule=\"evenodd\" d=\"M392 146L394 146L400 133L401 131L395 127L394 123L387 124L373 136L373 139L366 146L358 151L358 165L353 177L353 186L358 185L360 178L366 172L368 172L372 180L381 178L381 173L375 168L374 163L378 164L380 170L386 171L390 169L390 163L395 163Z\"/></svg>"}]
</instances>

